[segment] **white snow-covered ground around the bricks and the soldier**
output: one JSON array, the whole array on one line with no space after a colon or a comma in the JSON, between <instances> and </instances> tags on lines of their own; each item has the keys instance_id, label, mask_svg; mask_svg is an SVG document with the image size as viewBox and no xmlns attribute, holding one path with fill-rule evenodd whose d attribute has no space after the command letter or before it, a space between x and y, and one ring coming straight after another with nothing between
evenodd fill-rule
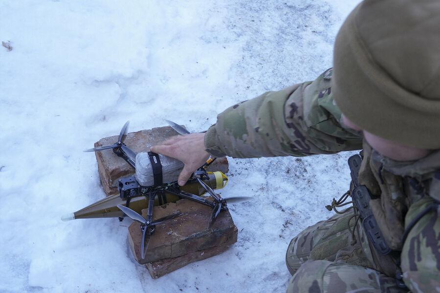
<instances>
[{"instance_id":1,"label":"white snow-covered ground around the bricks and the soldier","mask_svg":"<svg viewBox=\"0 0 440 293\"><path fill-rule=\"evenodd\" d=\"M98 139L201 131L236 102L314 79L358 0L1 0L0 292L284 292L289 240L332 213L348 154L230 159L228 251L159 279L130 258L129 221L62 222L104 197Z\"/></svg>"}]
</instances>

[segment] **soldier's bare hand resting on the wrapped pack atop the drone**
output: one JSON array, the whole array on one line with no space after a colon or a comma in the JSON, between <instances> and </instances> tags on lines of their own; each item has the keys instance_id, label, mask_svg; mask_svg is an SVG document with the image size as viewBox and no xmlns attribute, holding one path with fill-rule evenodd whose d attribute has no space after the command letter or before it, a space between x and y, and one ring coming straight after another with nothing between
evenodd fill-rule
<instances>
[{"instance_id":1,"label":"soldier's bare hand resting on the wrapped pack atop the drone","mask_svg":"<svg viewBox=\"0 0 440 293\"><path fill-rule=\"evenodd\" d=\"M151 150L175 158L185 164L178 178L180 186L185 185L191 174L209 158L209 154L205 150L204 133L174 136L163 142L162 145L153 146Z\"/></svg>"}]
</instances>

